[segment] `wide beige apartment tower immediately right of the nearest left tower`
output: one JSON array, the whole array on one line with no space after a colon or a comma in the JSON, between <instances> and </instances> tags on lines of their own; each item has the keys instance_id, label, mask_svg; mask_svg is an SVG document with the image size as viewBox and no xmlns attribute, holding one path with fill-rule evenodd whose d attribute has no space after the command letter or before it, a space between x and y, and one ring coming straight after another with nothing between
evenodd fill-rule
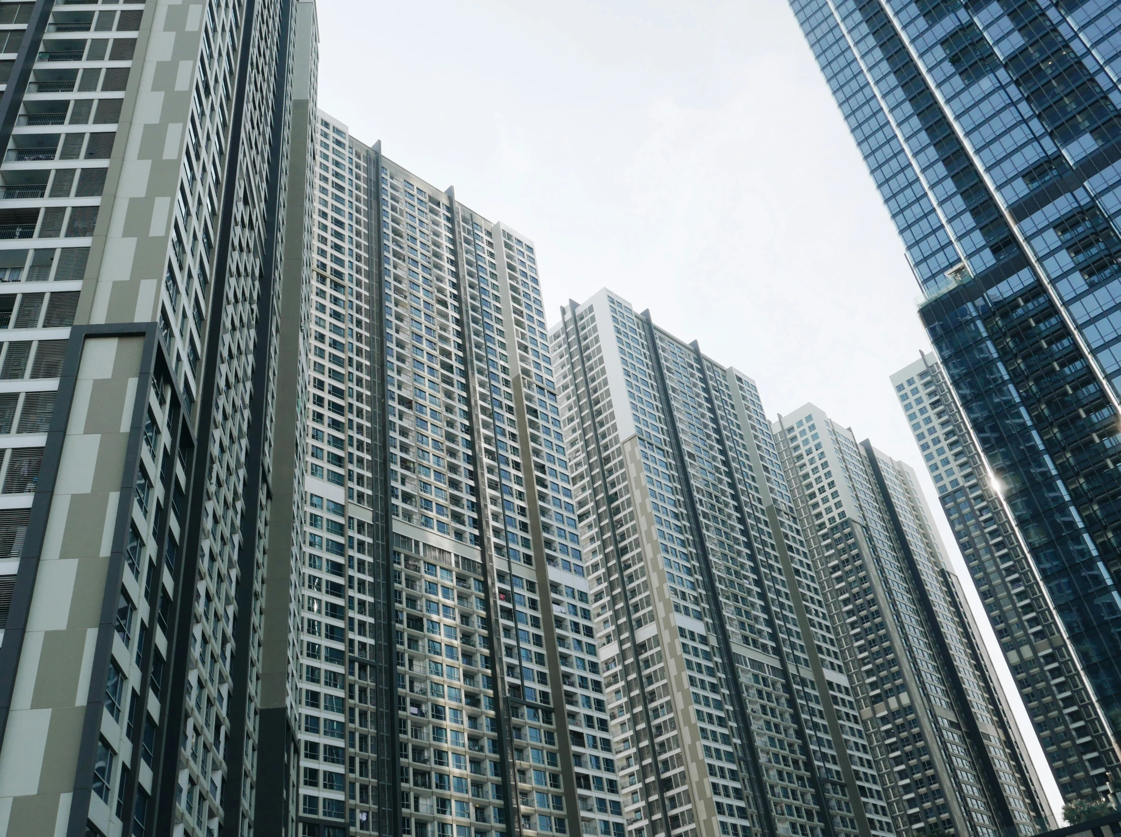
<instances>
[{"instance_id":1,"label":"wide beige apartment tower immediately right of the nearest left tower","mask_svg":"<svg viewBox=\"0 0 1121 837\"><path fill-rule=\"evenodd\" d=\"M314 139L299 834L623 837L534 243Z\"/></svg>"}]
</instances>

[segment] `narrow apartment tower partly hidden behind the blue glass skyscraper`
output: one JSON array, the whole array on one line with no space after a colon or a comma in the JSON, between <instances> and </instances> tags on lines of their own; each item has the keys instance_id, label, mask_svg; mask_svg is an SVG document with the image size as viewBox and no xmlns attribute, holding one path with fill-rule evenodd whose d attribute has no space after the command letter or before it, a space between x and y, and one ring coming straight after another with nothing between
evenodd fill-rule
<instances>
[{"instance_id":1,"label":"narrow apartment tower partly hidden behind the blue glass skyscraper","mask_svg":"<svg viewBox=\"0 0 1121 837\"><path fill-rule=\"evenodd\" d=\"M1015 515L930 353L891 376L1063 797L1112 796L1118 744Z\"/></svg>"}]
</instances>

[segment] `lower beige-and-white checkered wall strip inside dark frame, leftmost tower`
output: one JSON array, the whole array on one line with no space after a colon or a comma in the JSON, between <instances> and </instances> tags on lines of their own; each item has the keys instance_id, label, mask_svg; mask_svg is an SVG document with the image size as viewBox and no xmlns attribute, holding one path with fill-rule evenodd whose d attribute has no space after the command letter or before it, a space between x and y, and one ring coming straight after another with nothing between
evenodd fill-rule
<instances>
[{"instance_id":1,"label":"lower beige-and-white checkered wall strip inside dark frame, leftmost tower","mask_svg":"<svg viewBox=\"0 0 1121 837\"><path fill-rule=\"evenodd\" d=\"M0 797L16 797L0 834L65 831L142 352L142 337L83 347L0 751Z\"/></svg>"}]
</instances>

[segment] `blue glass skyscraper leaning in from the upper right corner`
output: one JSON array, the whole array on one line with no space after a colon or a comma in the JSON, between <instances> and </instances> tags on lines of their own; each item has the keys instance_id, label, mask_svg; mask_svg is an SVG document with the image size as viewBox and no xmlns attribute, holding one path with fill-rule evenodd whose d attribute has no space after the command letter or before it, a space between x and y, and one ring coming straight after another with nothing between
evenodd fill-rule
<instances>
[{"instance_id":1,"label":"blue glass skyscraper leaning in from the upper right corner","mask_svg":"<svg viewBox=\"0 0 1121 837\"><path fill-rule=\"evenodd\" d=\"M791 4L904 238L946 376L1117 737L1121 6Z\"/></svg>"}]
</instances>

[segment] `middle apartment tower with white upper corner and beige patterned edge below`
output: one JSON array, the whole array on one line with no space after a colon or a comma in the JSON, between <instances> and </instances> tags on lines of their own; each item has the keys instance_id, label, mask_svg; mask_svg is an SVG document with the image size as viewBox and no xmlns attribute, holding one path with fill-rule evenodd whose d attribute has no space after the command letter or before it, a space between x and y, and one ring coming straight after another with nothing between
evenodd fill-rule
<instances>
[{"instance_id":1,"label":"middle apartment tower with white upper corner and beige patterned edge below","mask_svg":"<svg viewBox=\"0 0 1121 837\"><path fill-rule=\"evenodd\" d=\"M892 834L754 383L609 290L550 345L629 835Z\"/></svg>"}]
</instances>

